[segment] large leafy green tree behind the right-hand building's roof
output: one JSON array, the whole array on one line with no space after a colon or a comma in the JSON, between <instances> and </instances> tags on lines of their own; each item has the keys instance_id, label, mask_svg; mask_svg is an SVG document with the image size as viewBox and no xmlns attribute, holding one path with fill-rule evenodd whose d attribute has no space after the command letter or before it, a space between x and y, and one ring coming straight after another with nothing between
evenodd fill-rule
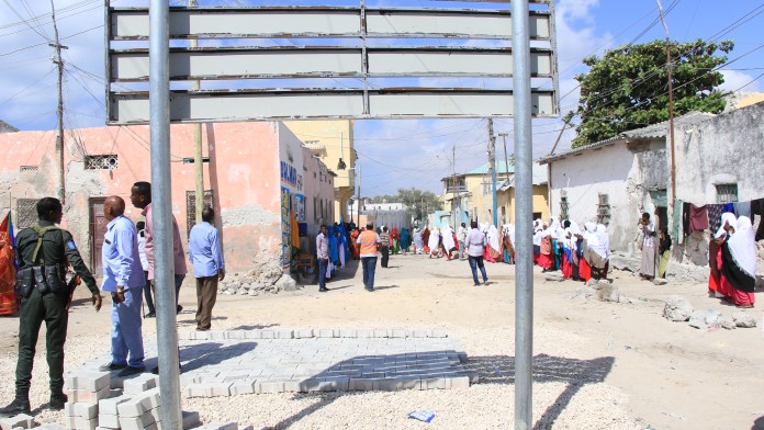
<instances>
[{"instance_id":1,"label":"large leafy green tree behind the right-hand building's roof","mask_svg":"<svg viewBox=\"0 0 764 430\"><path fill-rule=\"evenodd\" d=\"M674 115L721 112L724 101L718 87L724 78L712 70L727 63L727 56L717 52L729 53L733 43L697 39L670 46ZM581 83L581 101L574 112L581 124L574 148L668 120L665 41L621 46L583 63L589 71L575 77Z\"/></svg>"}]
</instances>

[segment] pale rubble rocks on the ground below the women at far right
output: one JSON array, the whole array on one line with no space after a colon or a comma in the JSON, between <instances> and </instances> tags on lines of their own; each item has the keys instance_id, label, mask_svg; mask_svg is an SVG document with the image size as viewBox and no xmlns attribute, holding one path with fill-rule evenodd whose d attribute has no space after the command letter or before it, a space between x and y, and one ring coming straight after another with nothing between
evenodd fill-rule
<instances>
[{"instance_id":1,"label":"pale rubble rocks on the ground below the women at far right","mask_svg":"<svg viewBox=\"0 0 764 430\"><path fill-rule=\"evenodd\" d=\"M734 310L731 315L724 315L718 309L693 309L693 305L686 298L673 295L666 299L663 307L663 317L670 321L689 321L690 327L697 329L724 328L733 330L738 327L756 327L756 318L743 310Z\"/></svg>"}]
</instances>

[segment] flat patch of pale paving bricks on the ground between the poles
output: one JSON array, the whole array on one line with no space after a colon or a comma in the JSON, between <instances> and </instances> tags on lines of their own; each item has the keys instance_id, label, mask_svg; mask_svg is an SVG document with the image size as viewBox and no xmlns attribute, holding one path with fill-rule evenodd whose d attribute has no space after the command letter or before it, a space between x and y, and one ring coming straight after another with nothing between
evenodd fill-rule
<instances>
[{"instance_id":1,"label":"flat patch of pale paving bricks on the ground between the poles","mask_svg":"<svg viewBox=\"0 0 764 430\"><path fill-rule=\"evenodd\" d=\"M181 375L188 397L448 389L478 383L478 373L461 365L467 361L461 344L440 329L210 330L181 336L188 340L183 347L204 357L198 359L204 362L189 358L194 371Z\"/></svg>"}]
</instances>

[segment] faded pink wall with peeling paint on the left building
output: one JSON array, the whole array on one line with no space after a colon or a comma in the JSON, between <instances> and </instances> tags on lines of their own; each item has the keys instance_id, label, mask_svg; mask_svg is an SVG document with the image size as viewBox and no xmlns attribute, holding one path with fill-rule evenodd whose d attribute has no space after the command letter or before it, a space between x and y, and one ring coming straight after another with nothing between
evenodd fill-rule
<instances>
[{"instance_id":1,"label":"faded pink wall with peeling paint on the left building","mask_svg":"<svg viewBox=\"0 0 764 430\"><path fill-rule=\"evenodd\" d=\"M326 166L301 147L296 137L280 133L274 122L203 124L204 189L213 190L213 205L218 214L226 264L231 270L246 270L281 256L280 217L280 146L296 146L301 169L327 172ZM193 163L193 125L171 126L172 214L186 238L187 191L195 190ZM13 211L18 219L18 199L41 199L57 194L55 132L19 132L0 134L0 210ZM141 211L130 204L130 189L136 181L150 180L148 126L82 128L67 133L66 204L63 225L78 242L86 261L91 261L91 199L116 194L127 202L126 216L141 220ZM283 140L283 142L282 142ZM86 169L85 155L114 154L119 167ZM305 161L303 161L305 160ZM21 166L36 167L20 171ZM323 169L323 170L322 170ZM306 185L306 188L308 188ZM311 196L328 199L334 191L310 185ZM313 203L306 202L312 210ZM308 224L316 224L311 213ZM316 227L313 228L315 230ZM97 273L98 274L98 273Z\"/></svg>"}]
</instances>

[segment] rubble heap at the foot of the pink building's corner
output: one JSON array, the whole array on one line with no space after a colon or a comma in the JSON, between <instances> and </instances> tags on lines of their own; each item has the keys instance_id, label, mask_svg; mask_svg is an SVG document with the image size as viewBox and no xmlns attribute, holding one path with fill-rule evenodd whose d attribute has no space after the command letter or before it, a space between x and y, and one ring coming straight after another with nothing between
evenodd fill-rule
<instances>
[{"instance_id":1,"label":"rubble heap at the foot of the pink building's corner","mask_svg":"<svg viewBox=\"0 0 764 430\"><path fill-rule=\"evenodd\" d=\"M228 273L217 287L218 294L249 295L277 294L282 291L297 291L300 285L292 276L285 274L278 262L269 262L247 272Z\"/></svg>"}]
</instances>

